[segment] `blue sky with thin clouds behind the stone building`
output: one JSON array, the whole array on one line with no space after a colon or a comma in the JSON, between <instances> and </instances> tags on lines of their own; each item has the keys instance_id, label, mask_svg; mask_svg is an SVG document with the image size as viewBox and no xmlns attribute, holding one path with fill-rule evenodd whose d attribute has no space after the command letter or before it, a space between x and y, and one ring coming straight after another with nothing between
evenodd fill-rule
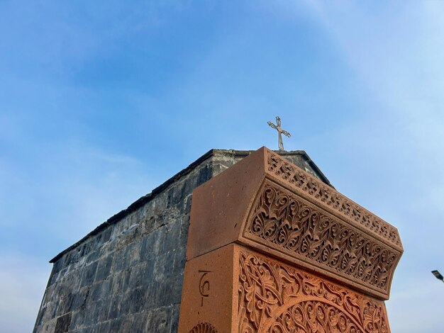
<instances>
[{"instance_id":1,"label":"blue sky with thin clouds behind the stone building","mask_svg":"<svg viewBox=\"0 0 444 333\"><path fill-rule=\"evenodd\" d=\"M0 327L48 260L211 148L304 149L398 227L392 332L442 332L443 1L0 0Z\"/></svg>"}]
</instances>

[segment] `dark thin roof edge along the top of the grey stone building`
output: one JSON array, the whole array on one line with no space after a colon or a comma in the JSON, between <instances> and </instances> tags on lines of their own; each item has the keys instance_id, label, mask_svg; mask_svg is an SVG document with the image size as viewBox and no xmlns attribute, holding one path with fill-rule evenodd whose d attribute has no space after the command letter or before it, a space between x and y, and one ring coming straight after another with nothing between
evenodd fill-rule
<instances>
[{"instance_id":1,"label":"dark thin roof edge along the top of the grey stone building","mask_svg":"<svg viewBox=\"0 0 444 333\"><path fill-rule=\"evenodd\" d=\"M135 210L137 210L138 208L140 208L143 205L145 205L145 203L148 203L148 202L152 201L152 199L155 198L155 196L157 196L157 194L159 194L162 191L164 191L165 188L167 188L168 186L173 184L175 181L177 181L180 178L182 178L183 176L189 174L192 170L194 170L194 168L196 166L198 166L202 162L206 161L207 159L209 159L209 158L211 158L211 157L213 157L215 155L226 155L226 156L230 156L230 157L236 157L236 156L238 156L238 157L245 156L246 157L246 156L248 156L250 153L252 153L254 151L255 150L210 149L208 152L206 152L201 157L196 159L196 161L192 162L192 164L189 164L189 166L187 166L186 168L182 169L182 171L179 171L177 174L172 176L170 179L165 181L163 184L161 184L160 186L157 186L156 188L154 188L150 193L145 194L145 196L142 196L142 197L138 198L138 200L136 200L133 203L131 203L131 205L129 205L128 208L123 209L120 212L118 212L117 214L111 216L111 218L109 218L105 222L101 223L101 225L99 225L94 230L89 232L87 235L82 237L82 239L80 239L78 242L75 242L70 247L67 247L67 249L64 249L62 252L57 254L57 256L55 256L54 258L52 258L49 261L50 264L54 264L55 261L57 261L60 258L62 258L62 256L64 254L66 254L67 252L70 252L72 249L78 247L79 244L82 244L83 242L85 242L90 237L99 234L99 232L101 232L101 230L106 229L106 227L109 227L109 225L113 225L114 223L122 220L123 218L126 218L126 216L130 215ZM327 177L323 175L323 173L318 168L318 166L316 166L316 164L314 164L314 162L311 160L309 155L306 154L306 152L304 150L291 150L291 151L283 151L283 152L275 150L274 152L276 152L277 154L282 155L282 156L292 155L292 154L300 154L301 156L304 157L304 159L306 159L306 161L313 168L313 170L315 170L321 176L321 180L324 181L329 186L333 187L330 184L330 181L328 181Z\"/></svg>"}]
</instances>

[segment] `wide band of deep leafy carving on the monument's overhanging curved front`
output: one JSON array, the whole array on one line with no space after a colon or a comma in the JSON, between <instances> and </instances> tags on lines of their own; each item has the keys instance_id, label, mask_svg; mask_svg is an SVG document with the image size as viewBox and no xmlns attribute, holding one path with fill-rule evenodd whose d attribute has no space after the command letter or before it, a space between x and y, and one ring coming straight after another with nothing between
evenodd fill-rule
<instances>
[{"instance_id":1,"label":"wide band of deep leafy carving on the monument's overhanging curved front","mask_svg":"<svg viewBox=\"0 0 444 333\"><path fill-rule=\"evenodd\" d=\"M399 254L313 207L265 184L245 237L254 235L267 246L387 292Z\"/></svg>"}]
</instances>

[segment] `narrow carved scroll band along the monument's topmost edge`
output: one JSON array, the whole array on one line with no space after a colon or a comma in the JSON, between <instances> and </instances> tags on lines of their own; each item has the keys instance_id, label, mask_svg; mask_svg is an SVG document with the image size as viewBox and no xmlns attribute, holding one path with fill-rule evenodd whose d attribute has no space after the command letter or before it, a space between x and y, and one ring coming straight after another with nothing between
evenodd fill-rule
<instances>
[{"instance_id":1,"label":"narrow carved scroll band along the monument's topmost edge","mask_svg":"<svg viewBox=\"0 0 444 333\"><path fill-rule=\"evenodd\" d=\"M380 220L365 208L357 205L357 203L338 193L330 186L318 181L305 171L286 162L277 154L271 152L268 154L268 171L288 181L290 184L297 186L305 193L328 205L328 207L333 208L360 225L367 227L377 235L384 237L384 239L389 240L389 242L401 248L399 233L392 225Z\"/></svg>"}]
</instances>

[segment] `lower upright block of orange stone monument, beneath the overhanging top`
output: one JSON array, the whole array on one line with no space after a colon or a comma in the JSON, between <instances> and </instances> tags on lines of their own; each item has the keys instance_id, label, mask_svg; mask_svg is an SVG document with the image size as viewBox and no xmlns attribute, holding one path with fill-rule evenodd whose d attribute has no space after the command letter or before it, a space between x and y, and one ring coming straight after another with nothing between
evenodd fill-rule
<instances>
[{"instance_id":1,"label":"lower upright block of orange stone monument, beneath the overhanging top","mask_svg":"<svg viewBox=\"0 0 444 333\"><path fill-rule=\"evenodd\" d=\"M187 262L179 332L382 333L389 324L381 300L231 244Z\"/></svg>"}]
</instances>

